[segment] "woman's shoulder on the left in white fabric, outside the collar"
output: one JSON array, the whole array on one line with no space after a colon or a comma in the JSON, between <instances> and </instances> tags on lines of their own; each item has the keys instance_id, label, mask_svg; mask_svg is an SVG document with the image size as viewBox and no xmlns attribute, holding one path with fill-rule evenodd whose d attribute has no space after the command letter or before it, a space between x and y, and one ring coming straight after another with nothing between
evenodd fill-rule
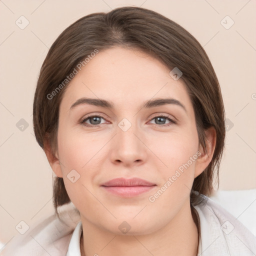
<instances>
[{"instance_id":1,"label":"woman's shoulder on the left in white fabric, outside the collar","mask_svg":"<svg viewBox=\"0 0 256 256\"><path fill-rule=\"evenodd\" d=\"M64 256L80 215L72 203L59 207L60 219L54 214L15 235L0 252L1 256Z\"/></svg>"}]
</instances>

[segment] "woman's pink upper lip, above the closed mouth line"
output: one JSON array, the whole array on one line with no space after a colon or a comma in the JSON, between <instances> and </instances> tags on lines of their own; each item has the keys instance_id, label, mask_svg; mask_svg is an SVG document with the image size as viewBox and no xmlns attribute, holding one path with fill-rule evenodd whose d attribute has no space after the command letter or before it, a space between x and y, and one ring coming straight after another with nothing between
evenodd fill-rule
<instances>
[{"instance_id":1,"label":"woman's pink upper lip, above the closed mouth line","mask_svg":"<svg viewBox=\"0 0 256 256\"><path fill-rule=\"evenodd\" d=\"M141 178L114 178L101 184L101 186L152 186L155 185Z\"/></svg>"}]
</instances>

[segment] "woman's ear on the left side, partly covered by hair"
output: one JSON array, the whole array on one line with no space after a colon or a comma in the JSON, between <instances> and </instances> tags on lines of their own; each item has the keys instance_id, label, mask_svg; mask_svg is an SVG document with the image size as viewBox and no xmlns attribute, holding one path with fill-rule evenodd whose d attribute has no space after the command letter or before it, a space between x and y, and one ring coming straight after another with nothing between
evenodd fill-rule
<instances>
[{"instance_id":1,"label":"woman's ear on the left side, partly covered by hair","mask_svg":"<svg viewBox=\"0 0 256 256\"><path fill-rule=\"evenodd\" d=\"M46 154L46 157L48 159L51 169L54 171L54 173L58 177L62 177L62 171L61 171L60 163L58 159L58 152L57 150L53 152L53 149L50 145L49 136L46 136L44 139L43 150L44 150L44 153Z\"/></svg>"}]
</instances>

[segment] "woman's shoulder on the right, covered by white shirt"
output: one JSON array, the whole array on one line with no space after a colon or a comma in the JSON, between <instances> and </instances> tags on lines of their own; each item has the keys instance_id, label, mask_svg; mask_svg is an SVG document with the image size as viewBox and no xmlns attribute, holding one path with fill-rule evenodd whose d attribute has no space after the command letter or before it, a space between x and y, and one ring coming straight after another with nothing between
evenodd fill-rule
<instances>
[{"instance_id":1,"label":"woman's shoulder on the right, covered by white shirt","mask_svg":"<svg viewBox=\"0 0 256 256\"><path fill-rule=\"evenodd\" d=\"M256 237L219 204L199 196L202 202L194 208L200 220L201 255L255 255Z\"/></svg>"}]
</instances>

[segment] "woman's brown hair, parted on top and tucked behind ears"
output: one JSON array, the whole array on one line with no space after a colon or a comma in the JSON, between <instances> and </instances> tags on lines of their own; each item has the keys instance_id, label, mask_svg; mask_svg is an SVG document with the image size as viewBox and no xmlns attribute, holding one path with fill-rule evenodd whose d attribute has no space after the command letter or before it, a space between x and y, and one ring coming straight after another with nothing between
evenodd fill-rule
<instances>
[{"instance_id":1,"label":"woman's brown hair, parted on top and tucked behind ears","mask_svg":"<svg viewBox=\"0 0 256 256\"><path fill-rule=\"evenodd\" d=\"M66 88L63 80L95 49L100 52L114 46L138 48L170 69L178 67L194 108L199 143L204 149L204 129L215 128L213 158L192 185L190 203L198 204L201 197L193 191L210 195L214 170L218 183L225 138L221 92L210 60L199 42L180 25L152 10L120 7L107 13L92 13L75 21L57 37L43 61L34 94L33 125L37 142L44 148L48 139L54 151L59 104ZM58 86L61 83L63 86ZM57 86L61 87L58 91ZM69 201L63 179L55 177L53 203L56 213L57 206Z\"/></svg>"}]
</instances>

